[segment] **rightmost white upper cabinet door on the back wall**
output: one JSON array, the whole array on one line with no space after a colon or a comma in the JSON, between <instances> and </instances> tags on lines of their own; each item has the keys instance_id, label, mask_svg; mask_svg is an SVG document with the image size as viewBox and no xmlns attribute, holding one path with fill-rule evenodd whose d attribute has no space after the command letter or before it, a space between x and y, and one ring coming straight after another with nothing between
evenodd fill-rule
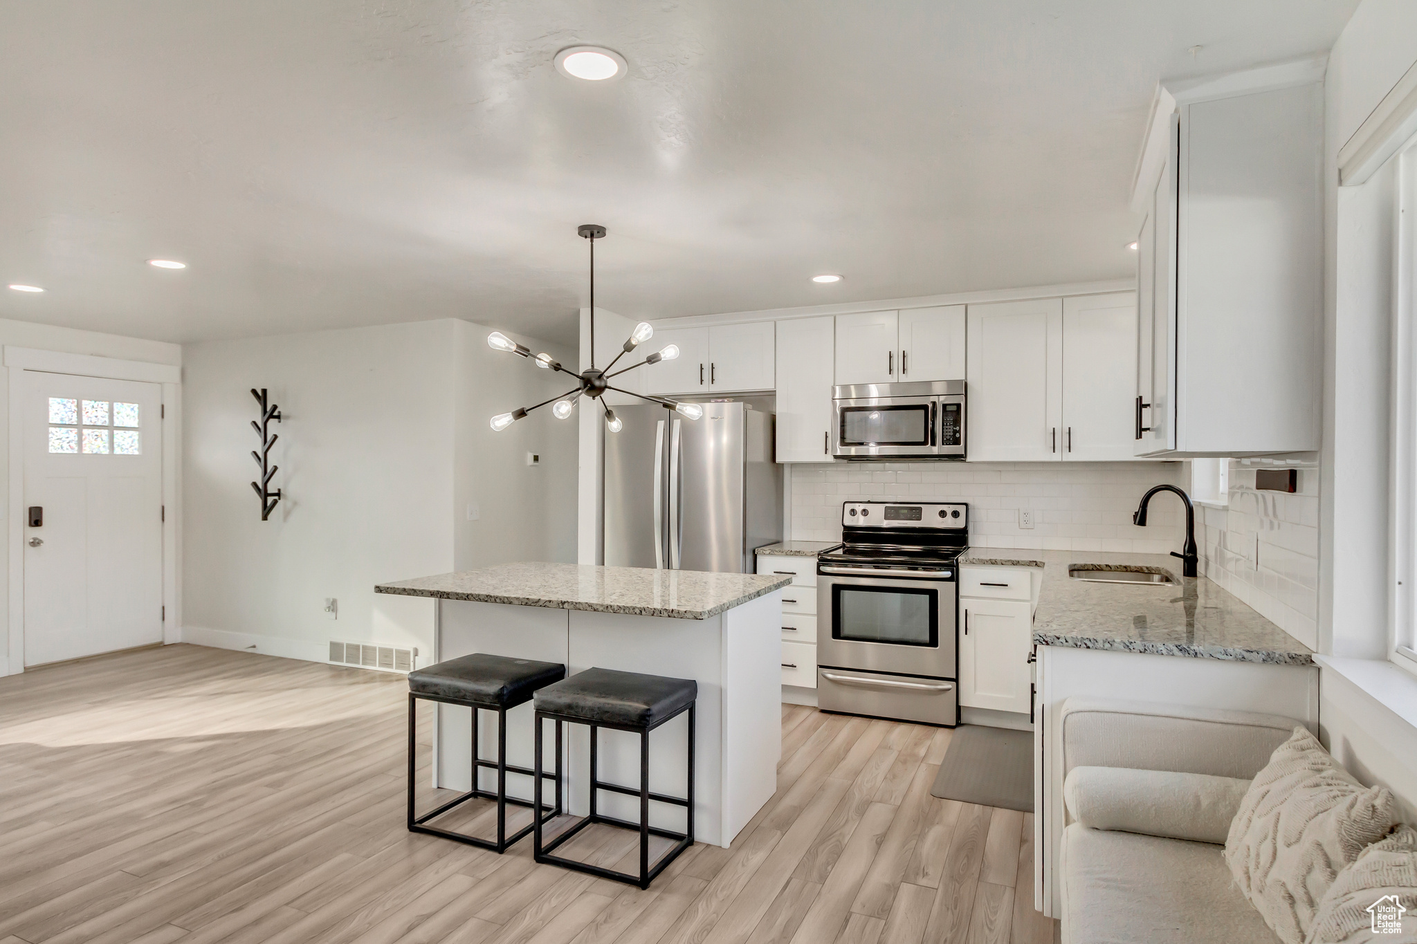
<instances>
[{"instance_id":1,"label":"rightmost white upper cabinet door on the back wall","mask_svg":"<svg viewBox=\"0 0 1417 944\"><path fill-rule=\"evenodd\" d=\"M1063 299L1063 459L1132 457L1136 293Z\"/></svg>"}]
</instances>

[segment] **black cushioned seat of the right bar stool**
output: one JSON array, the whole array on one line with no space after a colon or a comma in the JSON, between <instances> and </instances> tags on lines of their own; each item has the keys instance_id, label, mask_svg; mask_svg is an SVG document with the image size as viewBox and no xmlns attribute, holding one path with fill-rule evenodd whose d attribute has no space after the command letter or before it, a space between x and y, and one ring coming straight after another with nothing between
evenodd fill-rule
<instances>
[{"instance_id":1,"label":"black cushioned seat of the right bar stool","mask_svg":"<svg viewBox=\"0 0 1417 944\"><path fill-rule=\"evenodd\" d=\"M536 709L595 725L653 727L699 696L691 678L588 668L537 689Z\"/></svg>"}]
</instances>

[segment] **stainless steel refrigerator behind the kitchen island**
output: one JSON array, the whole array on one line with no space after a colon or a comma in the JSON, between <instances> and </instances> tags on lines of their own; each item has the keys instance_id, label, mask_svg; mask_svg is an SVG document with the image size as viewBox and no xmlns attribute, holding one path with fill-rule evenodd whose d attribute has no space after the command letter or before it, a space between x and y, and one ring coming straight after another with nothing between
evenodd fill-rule
<instances>
[{"instance_id":1,"label":"stainless steel refrigerator behind the kitchen island","mask_svg":"<svg viewBox=\"0 0 1417 944\"><path fill-rule=\"evenodd\" d=\"M782 539L782 467L772 415L703 403L684 419L657 405L616 406L605 433L605 563L752 573L752 552Z\"/></svg>"}]
</instances>

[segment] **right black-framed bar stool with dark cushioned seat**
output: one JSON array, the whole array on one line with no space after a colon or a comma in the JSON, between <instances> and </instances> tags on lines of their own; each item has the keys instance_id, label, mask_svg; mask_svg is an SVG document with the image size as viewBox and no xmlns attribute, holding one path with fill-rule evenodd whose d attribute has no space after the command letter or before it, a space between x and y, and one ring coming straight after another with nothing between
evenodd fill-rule
<instances>
[{"instance_id":1,"label":"right black-framed bar stool with dark cushioned seat","mask_svg":"<svg viewBox=\"0 0 1417 944\"><path fill-rule=\"evenodd\" d=\"M560 761L561 722L587 725L591 729L591 808L589 815L560 834L550 844L541 841L541 819L536 824L533 858L537 862L560 865L577 872L588 872L602 879L614 879L648 889L655 876L665 870L680 852L694 844L694 701L699 698L699 682L687 678L663 678L639 672L616 672L606 668L589 668L571 678L547 685L536 693L536 777L533 802L541 802L541 729L543 720L555 720L557 760ZM689 712L689 795L666 797L649 791L649 732L665 722ZM599 778L598 737L601 727L639 733L639 788L604 783ZM597 811L597 795L601 790L639 797L639 822L628 822L606 817ZM649 825L649 802L666 802L684 807L687 822L684 832L670 832ZM557 807L560 808L560 781L557 781ZM563 842L592 822L635 829L639 832L639 875L602 869L585 862L551 855ZM656 862L649 865L649 836L676 839Z\"/></svg>"}]
</instances>

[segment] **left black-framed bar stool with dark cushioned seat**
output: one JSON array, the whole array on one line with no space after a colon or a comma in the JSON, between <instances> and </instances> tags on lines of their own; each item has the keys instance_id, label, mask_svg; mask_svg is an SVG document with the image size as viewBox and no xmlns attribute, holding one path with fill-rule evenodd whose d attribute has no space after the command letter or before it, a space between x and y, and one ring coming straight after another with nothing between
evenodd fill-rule
<instances>
[{"instance_id":1,"label":"left black-framed bar stool with dark cushioned seat","mask_svg":"<svg viewBox=\"0 0 1417 944\"><path fill-rule=\"evenodd\" d=\"M533 662L531 660L514 660L503 655L487 655L473 652L461 658L438 662L428 668L415 669L408 674L408 831L427 832L445 839L456 839L468 845L492 849L502 853L533 828L540 828L543 815L551 819L561 812L561 725L555 726L555 773L541 773L541 759L537 756L536 769L517 767L507 763L507 710L531 701L533 693L546 685L565 678L565 667L560 662ZM414 708L418 699L428 702L442 702L445 705L466 705L472 709L472 790L453 797L432 812L417 815L414 811ZM497 712L497 759L483 760L478 752L478 710L486 709ZM540 732L540 723L537 723ZM536 739L537 752L541 750L540 733ZM495 767L497 771L497 790L480 788L480 771L483 767ZM531 802L507 795L507 771L536 777L534 798ZM555 780L555 805L541 804L541 777ZM453 807L480 797L497 801L497 839L480 839L478 836L439 829L424 825L435 817L441 817ZM507 804L531 807L533 825L520 829L507 838ZM537 815L540 811L543 815Z\"/></svg>"}]
</instances>

